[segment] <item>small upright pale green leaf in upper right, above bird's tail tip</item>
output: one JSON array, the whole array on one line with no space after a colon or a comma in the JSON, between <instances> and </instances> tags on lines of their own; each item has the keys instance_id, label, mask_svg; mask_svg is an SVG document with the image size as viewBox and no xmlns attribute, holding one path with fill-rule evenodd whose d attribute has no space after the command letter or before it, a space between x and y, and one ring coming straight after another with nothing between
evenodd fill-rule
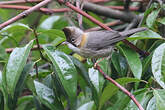
<instances>
[{"instance_id":1,"label":"small upright pale green leaf in upper right, above bird's tail tip","mask_svg":"<svg viewBox=\"0 0 165 110\"><path fill-rule=\"evenodd\" d=\"M153 27L153 25L154 25L154 23L155 23L155 21L156 21L156 18L157 18L158 14L159 14L159 12L160 12L160 9L156 9L156 10L153 10L153 11L148 15L148 17L147 17L147 19L146 19L146 24L147 24L147 26L148 26L149 28L152 28L152 27Z\"/></svg>"}]
</instances>

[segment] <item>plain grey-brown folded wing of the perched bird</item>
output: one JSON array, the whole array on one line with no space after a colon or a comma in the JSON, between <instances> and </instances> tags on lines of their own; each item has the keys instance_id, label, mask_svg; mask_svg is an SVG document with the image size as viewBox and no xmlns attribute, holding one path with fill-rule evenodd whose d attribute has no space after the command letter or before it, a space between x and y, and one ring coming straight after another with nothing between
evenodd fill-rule
<instances>
[{"instance_id":1,"label":"plain grey-brown folded wing of the perched bird","mask_svg":"<svg viewBox=\"0 0 165 110\"><path fill-rule=\"evenodd\" d=\"M92 50L107 48L125 39L117 31L92 31L88 32L86 47Z\"/></svg>"}]
</instances>

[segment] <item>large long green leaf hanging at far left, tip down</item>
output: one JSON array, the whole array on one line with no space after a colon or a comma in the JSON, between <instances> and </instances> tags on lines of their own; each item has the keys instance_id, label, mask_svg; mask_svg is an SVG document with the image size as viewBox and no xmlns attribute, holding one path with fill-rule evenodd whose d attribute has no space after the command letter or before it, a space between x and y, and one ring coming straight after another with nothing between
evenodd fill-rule
<instances>
[{"instance_id":1,"label":"large long green leaf hanging at far left, tip down","mask_svg":"<svg viewBox=\"0 0 165 110\"><path fill-rule=\"evenodd\" d=\"M33 41L25 47L15 48L11 53L6 66L6 82L8 92L13 96L16 84L21 76L21 72L26 64Z\"/></svg>"}]
</instances>

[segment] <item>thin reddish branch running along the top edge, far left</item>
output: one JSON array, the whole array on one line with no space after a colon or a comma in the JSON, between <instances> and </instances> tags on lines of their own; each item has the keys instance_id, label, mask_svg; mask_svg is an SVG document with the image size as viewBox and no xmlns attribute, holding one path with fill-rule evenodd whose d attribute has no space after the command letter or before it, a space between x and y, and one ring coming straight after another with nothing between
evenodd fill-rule
<instances>
[{"instance_id":1,"label":"thin reddish branch running along the top edge, far left","mask_svg":"<svg viewBox=\"0 0 165 110\"><path fill-rule=\"evenodd\" d=\"M38 3L43 0L13 0L13 1L1 1L0 5L5 5L5 4L22 4L22 3Z\"/></svg>"}]
</instances>

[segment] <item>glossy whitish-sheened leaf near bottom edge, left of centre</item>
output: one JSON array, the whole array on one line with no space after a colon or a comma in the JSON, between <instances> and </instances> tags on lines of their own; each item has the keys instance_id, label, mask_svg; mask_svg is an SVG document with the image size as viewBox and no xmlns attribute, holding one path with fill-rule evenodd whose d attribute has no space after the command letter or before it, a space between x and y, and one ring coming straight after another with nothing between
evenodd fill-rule
<instances>
[{"instance_id":1,"label":"glossy whitish-sheened leaf near bottom edge, left of centre","mask_svg":"<svg viewBox=\"0 0 165 110\"><path fill-rule=\"evenodd\" d=\"M34 85L40 101L51 110L58 110L54 104L55 96L53 90L38 81L34 81Z\"/></svg>"}]
</instances>

